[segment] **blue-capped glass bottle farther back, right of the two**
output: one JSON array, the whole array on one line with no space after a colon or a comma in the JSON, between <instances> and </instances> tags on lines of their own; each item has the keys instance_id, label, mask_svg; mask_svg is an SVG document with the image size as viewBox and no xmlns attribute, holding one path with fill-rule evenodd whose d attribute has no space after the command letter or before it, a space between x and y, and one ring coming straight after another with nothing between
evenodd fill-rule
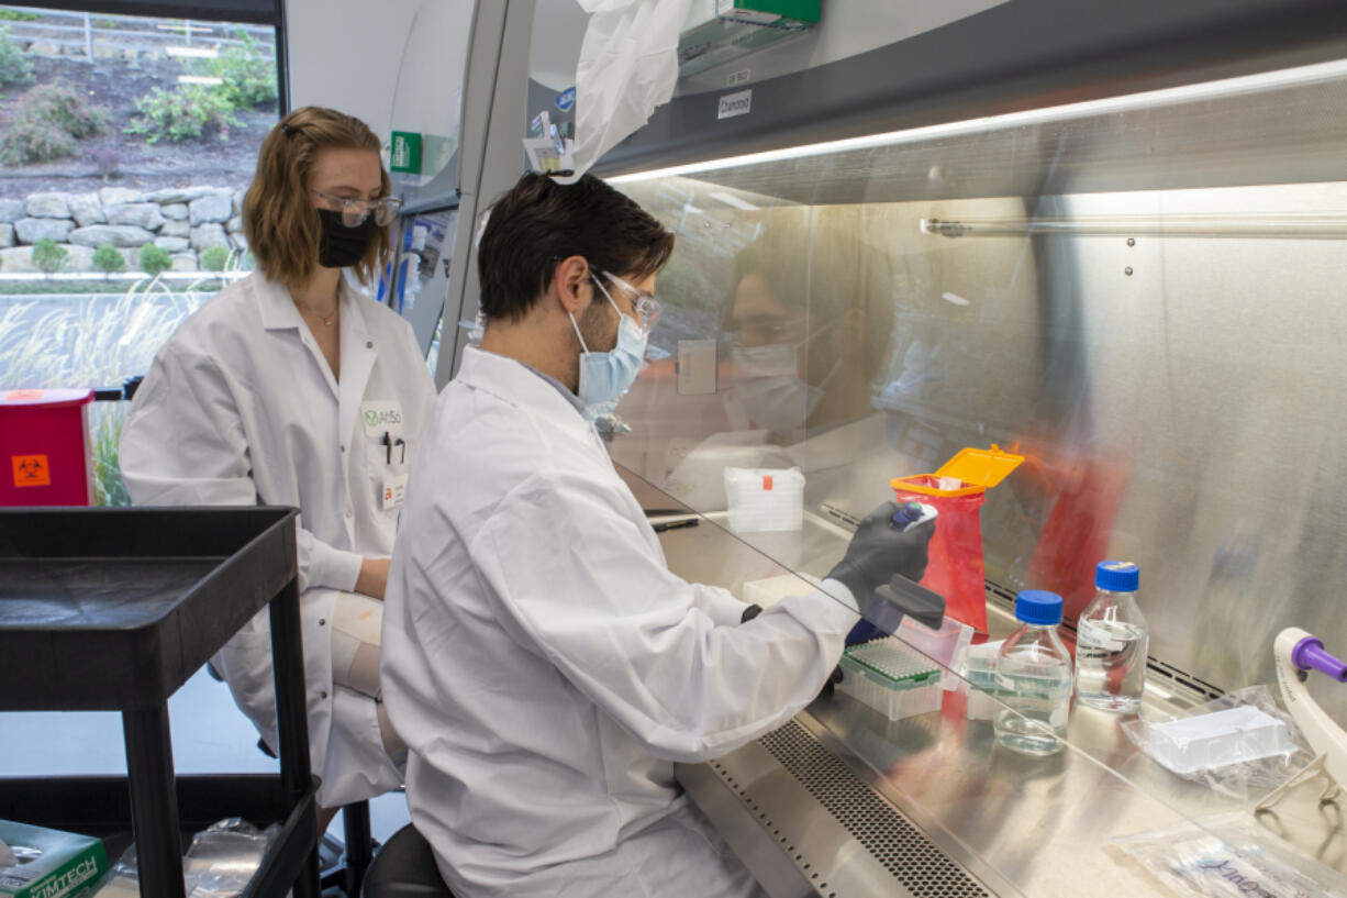
<instances>
[{"instance_id":1,"label":"blue-capped glass bottle farther back, right of the two","mask_svg":"<svg viewBox=\"0 0 1347 898\"><path fill-rule=\"evenodd\" d=\"M1076 622L1076 698L1130 713L1146 685L1150 630L1137 605L1141 572L1127 561L1100 561L1094 601Z\"/></svg>"}]
</instances>

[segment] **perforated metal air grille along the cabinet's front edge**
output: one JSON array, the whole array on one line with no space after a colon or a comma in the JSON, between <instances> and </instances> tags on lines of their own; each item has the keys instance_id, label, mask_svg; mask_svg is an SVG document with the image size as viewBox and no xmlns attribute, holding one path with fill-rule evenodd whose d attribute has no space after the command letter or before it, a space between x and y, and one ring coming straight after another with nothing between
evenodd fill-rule
<instances>
[{"instance_id":1,"label":"perforated metal air grille along the cabinet's front edge","mask_svg":"<svg viewBox=\"0 0 1347 898\"><path fill-rule=\"evenodd\" d=\"M909 894L920 898L990 898L990 893L967 871L828 754L800 724L792 720L760 742Z\"/></svg>"}]
</instances>

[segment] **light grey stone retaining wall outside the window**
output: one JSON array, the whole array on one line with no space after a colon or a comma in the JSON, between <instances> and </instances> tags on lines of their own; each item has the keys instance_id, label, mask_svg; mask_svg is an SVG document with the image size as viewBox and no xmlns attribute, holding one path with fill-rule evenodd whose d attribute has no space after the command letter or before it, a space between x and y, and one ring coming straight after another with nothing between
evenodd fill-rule
<instances>
[{"instance_id":1,"label":"light grey stone retaining wall outside the window","mask_svg":"<svg viewBox=\"0 0 1347 898\"><path fill-rule=\"evenodd\" d=\"M0 200L0 271L32 272L32 244L55 240L66 252L62 271L93 271L94 249L108 243L140 268L140 247L154 244L172 256L174 271L198 271L201 252L225 247L247 252L244 191L233 187L167 187L141 193L104 187L98 193L34 193Z\"/></svg>"}]
</instances>

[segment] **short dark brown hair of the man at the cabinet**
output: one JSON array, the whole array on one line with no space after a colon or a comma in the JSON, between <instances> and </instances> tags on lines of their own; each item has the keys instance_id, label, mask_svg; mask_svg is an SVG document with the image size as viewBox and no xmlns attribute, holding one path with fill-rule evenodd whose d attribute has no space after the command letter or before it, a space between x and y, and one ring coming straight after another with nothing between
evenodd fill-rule
<instances>
[{"instance_id":1,"label":"short dark brown hair of the man at the cabinet","mask_svg":"<svg viewBox=\"0 0 1347 898\"><path fill-rule=\"evenodd\" d=\"M556 264L583 256L594 275L643 279L674 253L674 235L593 175L559 185L527 174L490 209L477 251L482 314L519 321L551 286Z\"/></svg>"}]
</instances>

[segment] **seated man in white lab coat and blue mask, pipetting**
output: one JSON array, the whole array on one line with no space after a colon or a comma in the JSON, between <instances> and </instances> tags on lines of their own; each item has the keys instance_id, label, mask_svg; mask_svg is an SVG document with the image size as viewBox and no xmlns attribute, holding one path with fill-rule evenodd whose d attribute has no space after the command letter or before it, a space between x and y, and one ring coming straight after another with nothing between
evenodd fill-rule
<instances>
[{"instance_id":1,"label":"seated man in white lab coat and blue mask, pipetting","mask_svg":"<svg viewBox=\"0 0 1347 898\"><path fill-rule=\"evenodd\" d=\"M640 368L672 244L591 177L525 175L481 239L486 333L412 467L383 655L412 821L463 898L760 894L674 762L785 723L857 600L925 568L931 529L890 527L890 504L828 595L756 618L668 570L591 418Z\"/></svg>"}]
</instances>

